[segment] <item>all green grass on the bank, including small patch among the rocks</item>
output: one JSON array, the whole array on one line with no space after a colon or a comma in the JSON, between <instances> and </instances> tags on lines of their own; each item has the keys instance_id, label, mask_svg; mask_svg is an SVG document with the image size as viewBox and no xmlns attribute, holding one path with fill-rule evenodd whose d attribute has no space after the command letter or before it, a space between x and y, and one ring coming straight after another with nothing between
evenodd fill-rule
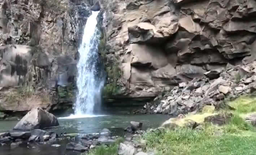
<instances>
[{"instance_id":1,"label":"all green grass on the bank, including small patch among the rocks","mask_svg":"<svg viewBox=\"0 0 256 155\"><path fill-rule=\"evenodd\" d=\"M216 111L208 107L199 114L172 120L179 127L146 132L142 136L147 142L146 149L154 150L156 155L255 155L256 128L244 117L256 112L256 98L243 96L227 104L233 110L226 108ZM204 123L205 117L223 112L233 114L225 125ZM181 124L186 120L196 121L202 128L183 127ZM98 147L90 155L117 155L118 143L110 147Z\"/></svg>"}]
</instances>

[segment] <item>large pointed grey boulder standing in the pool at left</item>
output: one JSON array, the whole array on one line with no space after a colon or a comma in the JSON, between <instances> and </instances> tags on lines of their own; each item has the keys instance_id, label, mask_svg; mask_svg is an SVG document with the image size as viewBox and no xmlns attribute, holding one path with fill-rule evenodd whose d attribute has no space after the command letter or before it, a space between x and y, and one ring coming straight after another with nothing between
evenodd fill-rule
<instances>
[{"instance_id":1,"label":"large pointed grey boulder standing in the pool at left","mask_svg":"<svg viewBox=\"0 0 256 155\"><path fill-rule=\"evenodd\" d=\"M49 112L37 107L29 111L14 127L14 130L33 130L58 126L58 120Z\"/></svg>"}]
</instances>

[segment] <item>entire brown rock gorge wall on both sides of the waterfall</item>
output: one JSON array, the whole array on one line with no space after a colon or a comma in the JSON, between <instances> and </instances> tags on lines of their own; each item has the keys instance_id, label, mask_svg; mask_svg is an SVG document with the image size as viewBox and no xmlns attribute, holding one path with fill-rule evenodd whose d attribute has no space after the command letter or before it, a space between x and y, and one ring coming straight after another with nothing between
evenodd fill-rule
<instances>
[{"instance_id":1,"label":"entire brown rock gorge wall on both sides of the waterfall","mask_svg":"<svg viewBox=\"0 0 256 155\"><path fill-rule=\"evenodd\" d=\"M0 0L0 111L73 105L94 4L107 105L144 104L207 71L255 60L255 0Z\"/></svg>"}]
</instances>

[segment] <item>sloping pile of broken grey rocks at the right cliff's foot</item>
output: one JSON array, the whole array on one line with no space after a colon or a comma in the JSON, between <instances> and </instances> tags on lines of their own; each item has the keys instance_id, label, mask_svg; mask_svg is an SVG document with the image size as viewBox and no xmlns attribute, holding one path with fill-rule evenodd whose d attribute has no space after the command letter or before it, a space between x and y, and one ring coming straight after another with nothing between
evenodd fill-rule
<instances>
[{"instance_id":1,"label":"sloping pile of broken grey rocks at the right cliff's foot","mask_svg":"<svg viewBox=\"0 0 256 155\"><path fill-rule=\"evenodd\" d=\"M256 90L256 62L248 65L218 68L204 73L203 78L194 78L189 82L179 83L163 97L134 111L143 114L179 115L197 111L205 105L223 106L225 99L250 94ZM216 79L217 78L217 79Z\"/></svg>"}]
</instances>

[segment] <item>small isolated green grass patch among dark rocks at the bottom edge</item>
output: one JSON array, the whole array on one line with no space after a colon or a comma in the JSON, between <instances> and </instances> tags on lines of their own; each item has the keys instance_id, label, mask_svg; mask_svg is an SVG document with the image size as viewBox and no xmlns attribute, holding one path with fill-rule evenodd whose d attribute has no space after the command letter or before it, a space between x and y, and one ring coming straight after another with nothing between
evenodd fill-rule
<instances>
[{"instance_id":1,"label":"small isolated green grass patch among dark rocks at the bottom edge","mask_svg":"<svg viewBox=\"0 0 256 155\"><path fill-rule=\"evenodd\" d=\"M117 155L118 145L123 142L123 138L118 138L116 142L114 142L110 146L101 145L96 147L95 149L90 150L88 153L84 153L82 155Z\"/></svg>"}]
</instances>

